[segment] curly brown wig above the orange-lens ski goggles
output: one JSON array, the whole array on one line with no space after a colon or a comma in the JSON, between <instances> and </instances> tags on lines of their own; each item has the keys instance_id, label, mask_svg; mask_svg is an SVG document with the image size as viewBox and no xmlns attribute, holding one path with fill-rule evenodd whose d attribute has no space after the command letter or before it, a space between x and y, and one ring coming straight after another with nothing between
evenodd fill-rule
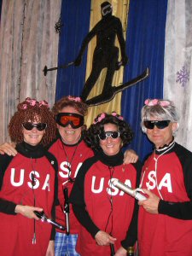
<instances>
[{"instance_id":1,"label":"curly brown wig above the orange-lens ski goggles","mask_svg":"<svg viewBox=\"0 0 192 256\"><path fill-rule=\"evenodd\" d=\"M87 114L87 105L79 98L75 96L64 96L58 102L55 102L52 112L56 116L57 113L61 113L62 108L73 107L83 116Z\"/></svg>"}]
</instances>

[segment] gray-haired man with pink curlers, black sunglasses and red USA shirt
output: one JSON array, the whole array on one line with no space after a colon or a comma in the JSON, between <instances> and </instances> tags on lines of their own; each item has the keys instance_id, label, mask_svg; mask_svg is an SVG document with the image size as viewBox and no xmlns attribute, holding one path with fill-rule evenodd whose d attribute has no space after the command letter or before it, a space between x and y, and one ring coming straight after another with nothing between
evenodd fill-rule
<instances>
[{"instance_id":1,"label":"gray-haired man with pink curlers, black sunglasses and red USA shirt","mask_svg":"<svg viewBox=\"0 0 192 256\"><path fill-rule=\"evenodd\" d=\"M175 142L178 113L169 100L148 99L142 129L154 143L143 166L139 255L192 255L192 153Z\"/></svg>"}]
</instances>

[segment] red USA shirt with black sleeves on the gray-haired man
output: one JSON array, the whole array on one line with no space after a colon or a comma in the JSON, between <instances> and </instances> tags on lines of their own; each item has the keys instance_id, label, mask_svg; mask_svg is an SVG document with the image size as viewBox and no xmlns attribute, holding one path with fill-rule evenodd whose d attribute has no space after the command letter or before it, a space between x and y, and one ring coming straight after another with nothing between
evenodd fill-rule
<instances>
[{"instance_id":1,"label":"red USA shirt with black sleeves on the gray-haired man","mask_svg":"<svg viewBox=\"0 0 192 256\"><path fill-rule=\"evenodd\" d=\"M163 202L167 202L167 214L170 214L168 210L173 203L191 201L192 179L187 181L189 187L186 188L186 177L192 172L192 154L176 143L170 152L159 155L151 154L146 160L142 188L162 197ZM154 158L157 160L156 171ZM182 207L175 212L181 218L166 215L166 209L165 214L150 214L140 207L138 241L141 256L192 255L192 220L182 219L182 213L189 211L189 208L182 210Z\"/></svg>"}]
</instances>

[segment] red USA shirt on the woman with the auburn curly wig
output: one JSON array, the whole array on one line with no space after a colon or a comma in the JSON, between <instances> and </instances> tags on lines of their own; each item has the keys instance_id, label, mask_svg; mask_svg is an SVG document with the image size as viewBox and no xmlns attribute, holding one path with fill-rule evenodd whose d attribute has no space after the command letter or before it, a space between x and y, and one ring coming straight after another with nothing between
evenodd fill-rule
<instances>
[{"instance_id":1,"label":"red USA shirt on the woman with the auburn curly wig","mask_svg":"<svg viewBox=\"0 0 192 256\"><path fill-rule=\"evenodd\" d=\"M32 167L35 170L32 170ZM32 172L35 176L33 189ZM42 207L45 214L51 218L54 189L55 170L47 158L43 156L31 160L18 153L10 161L4 173L0 198L27 206L34 206L35 203L36 207ZM0 212L0 255L44 256L49 244L51 229L52 225L40 220L26 218L21 214L12 215ZM34 232L36 244L32 244Z\"/></svg>"}]
</instances>

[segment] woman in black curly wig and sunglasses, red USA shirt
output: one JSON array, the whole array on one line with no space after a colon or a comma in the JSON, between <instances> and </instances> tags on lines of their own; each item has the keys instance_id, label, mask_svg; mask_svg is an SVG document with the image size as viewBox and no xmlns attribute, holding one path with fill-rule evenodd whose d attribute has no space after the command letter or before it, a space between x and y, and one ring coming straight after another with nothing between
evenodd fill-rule
<instances>
[{"instance_id":1,"label":"woman in black curly wig and sunglasses, red USA shirt","mask_svg":"<svg viewBox=\"0 0 192 256\"><path fill-rule=\"evenodd\" d=\"M79 222L77 250L82 256L126 255L137 240L137 204L113 187L113 179L135 188L140 163L123 164L121 148L131 142L130 126L117 113L101 113L85 132L84 141L96 155L81 166L70 202Z\"/></svg>"}]
</instances>

